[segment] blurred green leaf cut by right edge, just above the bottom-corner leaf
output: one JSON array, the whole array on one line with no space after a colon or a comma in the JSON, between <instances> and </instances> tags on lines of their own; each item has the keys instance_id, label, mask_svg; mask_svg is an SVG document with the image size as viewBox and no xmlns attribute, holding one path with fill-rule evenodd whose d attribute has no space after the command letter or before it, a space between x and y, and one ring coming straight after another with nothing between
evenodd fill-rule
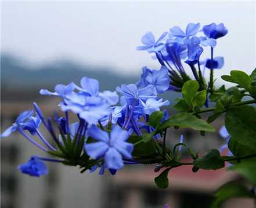
<instances>
[{"instance_id":1,"label":"blurred green leaf cut by right edge, just above the bottom-corner leaf","mask_svg":"<svg viewBox=\"0 0 256 208\"><path fill-rule=\"evenodd\" d=\"M256 185L256 159L243 159L235 166L231 166L229 170L235 170L242 176L246 177L253 185Z\"/></svg>"}]
</instances>

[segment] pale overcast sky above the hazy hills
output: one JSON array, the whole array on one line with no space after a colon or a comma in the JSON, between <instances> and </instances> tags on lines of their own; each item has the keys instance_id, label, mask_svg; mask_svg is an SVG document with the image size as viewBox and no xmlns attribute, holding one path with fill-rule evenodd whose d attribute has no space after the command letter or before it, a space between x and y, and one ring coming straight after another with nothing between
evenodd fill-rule
<instances>
[{"instance_id":1,"label":"pale overcast sky above the hazy hills","mask_svg":"<svg viewBox=\"0 0 256 208\"><path fill-rule=\"evenodd\" d=\"M14 2L2 1L1 50L33 64L69 58L113 66L121 73L158 68L140 38L174 25L224 23L229 33L215 55L225 57L218 75L255 67L255 2ZM205 57L209 54L205 48Z\"/></svg>"}]
</instances>

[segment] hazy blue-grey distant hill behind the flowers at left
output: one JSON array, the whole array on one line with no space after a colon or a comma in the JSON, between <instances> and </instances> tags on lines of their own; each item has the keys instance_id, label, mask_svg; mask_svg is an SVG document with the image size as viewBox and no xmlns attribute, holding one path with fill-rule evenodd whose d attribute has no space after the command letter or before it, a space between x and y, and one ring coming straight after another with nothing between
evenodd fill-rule
<instances>
[{"instance_id":1,"label":"hazy blue-grey distant hill behind the flowers at left","mask_svg":"<svg viewBox=\"0 0 256 208\"><path fill-rule=\"evenodd\" d=\"M98 79L100 90L114 90L122 83L134 83L139 76L121 76L111 72L110 68L80 65L73 61L53 61L31 67L24 60L12 55L1 56L1 94L2 99L28 99L38 94L41 88L52 90L56 84L79 84L83 76Z\"/></svg>"}]
</instances>

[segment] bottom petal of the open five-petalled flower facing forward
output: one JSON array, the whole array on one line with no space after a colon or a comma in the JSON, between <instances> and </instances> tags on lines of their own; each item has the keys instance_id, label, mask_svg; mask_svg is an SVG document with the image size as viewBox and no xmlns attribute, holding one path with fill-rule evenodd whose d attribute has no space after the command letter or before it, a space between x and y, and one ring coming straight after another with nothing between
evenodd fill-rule
<instances>
[{"instance_id":1,"label":"bottom petal of the open five-petalled flower facing forward","mask_svg":"<svg viewBox=\"0 0 256 208\"><path fill-rule=\"evenodd\" d=\"M124 162L122 161L122 156L116 148L109 148L107 153L105 154L104 161L106 162L106 166L109 169L118 170L124 166Z\"/></svg>"}]
</instances>

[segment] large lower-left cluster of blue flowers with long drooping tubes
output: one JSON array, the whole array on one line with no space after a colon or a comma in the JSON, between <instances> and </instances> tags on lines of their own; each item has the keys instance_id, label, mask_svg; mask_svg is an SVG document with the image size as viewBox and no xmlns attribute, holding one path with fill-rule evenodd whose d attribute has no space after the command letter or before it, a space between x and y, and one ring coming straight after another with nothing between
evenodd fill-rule
<instances>
[{"instance_id":1,"label":"large lower-left cluster of blue flowers with long drooping tubes","mask_svg":"<svg viewBox=\"0 0 256 208\"><path fill-rule=\"evenodd\" d=\"M134 145L127 140L132 134L141 136L141 129L152 132L153 129L147 126L149 115L160 110L161 106L169 105L169 101L157 96L169 88L168 70L145 68L138 83L117 87L121 94L120 106L116 106L119 100L117 92L99 92L97 80L83 77L80 84L57 84L55 92L40 91L41 95L61 98L59 106L64 116L59 117L54 112L58 133L53 128L52 118L46 119L36 103L35 111L21 113L15 123L2 133L1 137L6 137L17 131L41 150L63 158L56 160L33 156L26 164L19 166L21 172L38 177L48 173L44 161L81 165L74 162L81 157L86 160L83 161L86 169L93 172L99 167L100 174L106 168L114 174L124 164L138 164L132 158ZM77 122L70 123L70 112L77 116ZM140 118L144 118L145 122L139 122ZM50 133L51 142L40 132L41 123ZM34 136L38 136L41 143L36 142Z\"/></svg>"}]
</instances>

